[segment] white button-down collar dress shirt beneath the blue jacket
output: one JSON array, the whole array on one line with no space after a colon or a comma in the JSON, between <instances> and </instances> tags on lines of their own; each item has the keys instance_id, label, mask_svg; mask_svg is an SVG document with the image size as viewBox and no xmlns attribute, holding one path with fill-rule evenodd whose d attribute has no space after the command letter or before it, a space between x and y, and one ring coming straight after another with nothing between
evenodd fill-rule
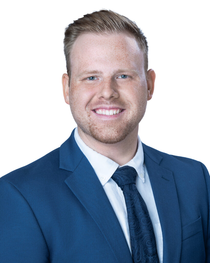
<instances>
[{"instance_id":1,"label":"white button-down collar dress shirt beneath the blue jacket","mask_svg":"<svg viewBox=\"0 0 210 263\"><path fill-rule=\"evenodd\" d=\"M136 187L146 203L155 233L159 262L162 263L162 257L163 257L162 230L160 226L160 220L155 205L155 200L154 200L148 172L144 164L144 153L139 136L138 136L138 148L136 155L132 160L130 160L128 163L122 166L119 166L119 164L117 164L115 161L109 159L108 157L100 153L97 153L97 151L94 151L89 146L87 146L80 138L77 128L75 129L74 132L74 138L80 150L83 152L83 154L86 156L86 158L92 165L96 175L98 176L99 181L103 186L104 191L107 194L107 197L122 227L130 252L131 252L131 243L130 243L128 216L127 216L127 210L125 205L125 199L124 199L123 191L115 183L115 181L111 178L111 176L113 175L113 173L116 171L117 168L122 167L124 165L129 165L135 168L135 170L138 173L136 180Z\"/></svg>"}]
</instances>

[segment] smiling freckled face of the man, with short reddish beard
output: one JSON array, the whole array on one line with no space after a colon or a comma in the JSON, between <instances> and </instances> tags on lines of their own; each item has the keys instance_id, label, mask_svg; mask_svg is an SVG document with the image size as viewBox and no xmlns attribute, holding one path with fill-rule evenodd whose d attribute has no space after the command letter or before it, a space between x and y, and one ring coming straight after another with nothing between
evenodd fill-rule
<instances>
[{"instance_id":1,"label":"smiling freckled face of the man, with short reddish beard","mask_svg":"<svg viewBox=\"0 0 210 263\"><path fill-rule=\"evenodd\" d=\"M129 33L82 34L70 58L69 98L67 90L64 93L78 130L112 144L138 129L148 87L143 53L135 38Z\"/></svg>"}]
</instances>

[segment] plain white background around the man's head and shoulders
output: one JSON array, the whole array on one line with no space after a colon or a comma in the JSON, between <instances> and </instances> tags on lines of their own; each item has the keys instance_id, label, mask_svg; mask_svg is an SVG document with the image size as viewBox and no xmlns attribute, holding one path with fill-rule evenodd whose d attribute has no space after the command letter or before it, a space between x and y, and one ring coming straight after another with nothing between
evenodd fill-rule
<instances>
[{"instance_id":1,"label":"plain white background around the man's head and shoulders","mask_svg":"<svg viewBox=\"0 0 210 263\"><path fill-rule=\"evenodd\" d=\"M73 3L75 2L75 3ZM135 21L149 44L155 92L141 140L160 151L209 162L207 1L4 1L0 26L0 176L58 148L76 124L61 77L65 27L102 8Z\"/></svg>"}]
</instances>

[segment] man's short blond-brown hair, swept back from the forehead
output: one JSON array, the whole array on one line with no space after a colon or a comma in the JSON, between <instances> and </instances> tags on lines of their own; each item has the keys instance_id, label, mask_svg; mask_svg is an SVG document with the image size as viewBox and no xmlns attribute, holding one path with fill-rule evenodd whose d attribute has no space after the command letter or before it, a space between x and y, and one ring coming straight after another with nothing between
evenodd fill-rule
<instances>
[{"instance_id":1,"label":"man's short blond-brown hair, swept back from the forehead","mask_svg":"<svg viewBox=\"0 0 210 263\"><path fill-rule=\"evenodd\" d=\"M127 17L111 10L103 9L91 14L86 14L65 28L64 54L66 57L66 69L69 80L71 77L70 53L78 36L84 33L101 35L122 32L130 32L137 39L139 48L143 51L144 71L147 76L148 44L141 29L137 27L135 22Z\"/></svg>"}]
</instances>

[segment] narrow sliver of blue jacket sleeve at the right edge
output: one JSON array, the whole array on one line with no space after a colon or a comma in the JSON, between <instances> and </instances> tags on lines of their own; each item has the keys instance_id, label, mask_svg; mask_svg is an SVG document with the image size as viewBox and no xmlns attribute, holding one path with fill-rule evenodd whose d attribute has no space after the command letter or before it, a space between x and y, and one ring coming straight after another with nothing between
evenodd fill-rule
<instances>
[{"instance_id":1,"label":"narrow sliver of blue jacket sleeve at the right edge","mask_svg":"<svg viewBox=\"0 0 210 263\"><path fill-rule=\"evenodd\" d=\"M201 163L203 168L203 173L206 180L206 186L208 190L208 202L209 202L209 210L208 210L208 232L207 232L207 241L206 241L206 263L210 262L210 176L208 170L204 164Z\"/></svg>"}]
</instances>

